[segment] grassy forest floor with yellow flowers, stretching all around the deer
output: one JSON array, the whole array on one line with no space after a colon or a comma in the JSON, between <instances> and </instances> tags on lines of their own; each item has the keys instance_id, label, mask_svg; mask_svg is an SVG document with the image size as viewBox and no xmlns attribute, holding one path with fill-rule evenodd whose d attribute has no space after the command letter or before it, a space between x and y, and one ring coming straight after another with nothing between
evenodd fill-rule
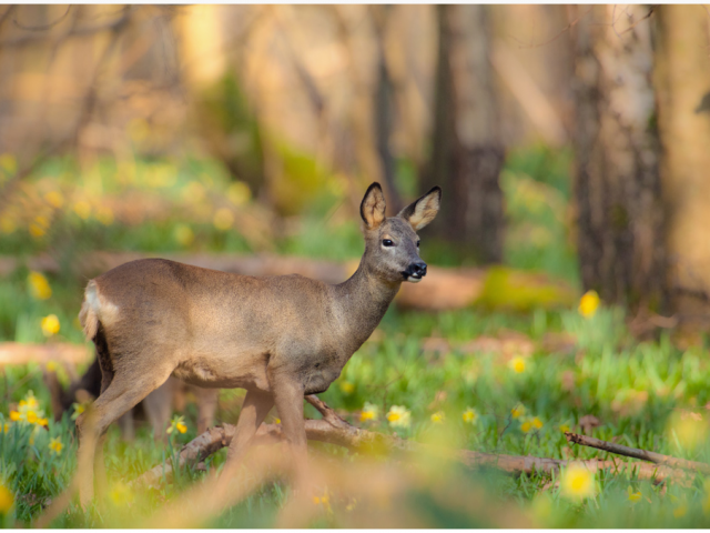
<instances>
[{"instance_id":1,"label":"grassy forest floor with yellow flowers, stretching all around the deer","mask_svg":"<svg viewBox=\"0 0 710 533\"><path fill-rule=\"evenodd\" d=\"M566 225L569 191L561 159L539 151L509 158L503 177L509 219L506 264L542 271L575 286L577 268ZM118 185L120 180L108 179L108 171L99 169L84 172L74 188L64 171L49 165L28 182L21 209L0 220L0 249L17 258L48 252L71 265L75 254L97 249L248 253L266 247L268 239L263 235L268 224L260 225L258 208L244 191L214 174L210 183L191 180L190 175L202 175L201 168L193 167L172 169L176 180L170 178L170 168L139 167L135 172L146 172L146 178L128 185ZM135 191L145 203L142 211L128 210L125 201L98 200L125 199ZM158 198L174 201L163 204ZM37 202L43 202L47 213ZM333 204L328 198L322 203ZM108 205L112 208L106 210ZM142 218L145 210L152 214ZM185 223L187 214L194 222ZM235 231L242 229L239 217L252 224L245 234ZM316 210L283 232L273 251L357 258L362 253L357 223L338 217L332 208ZM422 237L427 261L459 264L455 251L427 242L424 232ZM38 274L20 268L0 278L0 341L85 345L75 320L85 280L77 279L69 266ZM639 342L625 324L622 310L594 299L580 309L577 303L532 305L519 312L495 306L440 313L392 308L321 398L355 425L434 446L559 460L609 459L606 452L571 445L565 438L571 430L710 462L707 345L681 349L667 334ZM30 526L71 484L77 454L72 418L78 406L61 421L52 420L42 374L58 372L67 383L61 365L31 363L0 370L0 514L6 526ZM221 391L217 420L234 423L242 398L239 390ZM183 496L209 475L205 471L219 471L226 456L221 450L201 469L181 469L173 480L154 487L132 487L131 480L170 461L196 436L196 408L189 404L183 414L184 426L178 428L174 419L165 442L153 439L148 426L138 429L133 442L124 442L112 426L105 447L108 496L85 512L72 500L51 526L161 523L170 505L185 502ZM320 418L311 405L306 415ZM22 420L13 420L18 418ZM276 422L275 412L268 422ZM570 466L552 474L518 475L384 450L353 453L323 443L311 443L310 453L314 465L327 465L331 474L318 486L320 495L300 510L305 513L301 522L293 519L288 480L275 474L256 482L254 471L245 466L235 480L243 497L235 495L226 511L185 524L710 526L710 484L694 473L655 483L626 470L589 473Z\"/></svg>"}]
</instances>

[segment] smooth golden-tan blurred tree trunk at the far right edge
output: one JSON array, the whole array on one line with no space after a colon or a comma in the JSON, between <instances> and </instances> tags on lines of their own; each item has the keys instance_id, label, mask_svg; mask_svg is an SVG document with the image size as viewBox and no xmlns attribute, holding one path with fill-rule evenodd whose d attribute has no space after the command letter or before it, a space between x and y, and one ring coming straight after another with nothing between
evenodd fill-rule
<instances>
[{"instance_id":1,"label":"smooth golden-tan blurred tree trunk at the far right edge","mask_svg":"<svg viewBox=\"0 0 710 533\"><path fill-rule=\"evenodd\" d=\"M710 46L702 6L656 8L656 87L673 308L710 311ZM708 322L704 322L708 325Z\"/></svg>"}]
</instances>

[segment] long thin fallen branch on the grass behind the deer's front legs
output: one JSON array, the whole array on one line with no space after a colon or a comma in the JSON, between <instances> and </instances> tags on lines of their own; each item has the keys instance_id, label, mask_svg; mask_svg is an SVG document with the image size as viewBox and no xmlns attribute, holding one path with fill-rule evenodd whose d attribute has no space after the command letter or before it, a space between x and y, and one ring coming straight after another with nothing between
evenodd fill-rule
<instances>
[{"instance_id":1,"label":"long thin fallen branch on the grass behind the deer's front legs","mask_svg":"<svg viewBox=\"0 0 710 533\"><path fill-rule=\"evenodd\" d=\"M470 450L445 450L420 444L413 441L397 439L373 431L363 430L348 424L339 418L335 411L328 408L316 396L306 396L306 401L315 406L322 414L323 420L306 420L306 436L311 441L326 442L347 447L352 451L367 450L389 450L408 453L427 453L444 455L462 464L474 466L488 466L513 474L532 474L535 472L552 474L559 472L571 463L582 464L592 472L611 470L615 473L627 473L636 475L639 480L648 480L660 483L667 479L677 482L688 480L688 474L682 470L673 469L670 465L656 465L647 463L629 463L618 460L587 460L587 461L565 461L547 457L531 457L520 455L497 455L493 453L474 452ZM211 428L200 436L187 443L180 452L179 467L187 464L196 464L217 450L227 446L234 436L235 426L225 424L224 426ZM276 443L282 439L281 426L277 424L262 424L256 432L252 444ZM172 475L172 465L158 465L131 482L136 485L154 485L165 476Z\"/></svg>"}]
</instances>

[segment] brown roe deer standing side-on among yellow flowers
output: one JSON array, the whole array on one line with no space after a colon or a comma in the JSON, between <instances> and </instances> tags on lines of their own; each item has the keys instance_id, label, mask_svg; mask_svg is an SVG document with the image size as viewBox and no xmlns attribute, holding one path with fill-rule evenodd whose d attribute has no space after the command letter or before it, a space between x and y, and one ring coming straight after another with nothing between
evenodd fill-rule
<instances>
[{"instance_id":1,"label":"brown roe deer standing side-on among yellow flowers","mask_svg":"<svg viewBox=\"0 0 710 533\"><path fill-rule=\"evenodd\" d=\"M337 285L161 259L132 261L91 280L79 316L95 344L102 381L93 409L77 420L81 504L93 497L94 460L103 470L106 428L171 375L199 386L246 389L223 476L274 405L302 472L304 396L327 390L402 282L426 274L416 230L434 220L440 198L435 187L386 218L382 188L369 185L361 203L365 252Z\"/></svg>"}]
</instances>

